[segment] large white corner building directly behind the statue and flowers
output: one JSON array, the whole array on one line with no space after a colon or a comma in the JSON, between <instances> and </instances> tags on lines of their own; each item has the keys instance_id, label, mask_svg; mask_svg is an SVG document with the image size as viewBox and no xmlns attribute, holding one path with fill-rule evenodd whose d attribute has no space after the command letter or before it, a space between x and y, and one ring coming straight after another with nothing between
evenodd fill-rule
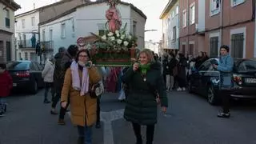
<instances>
[{"instance_id":1,"label":"large white corner building directly behind the statue and flowers","mask_svg":"<svg viewBox=\"0 0 256 144\"><path fill-rule=\"evenodd\" d=\"M68 47L77 44L77 39L90 36L90 33L99 34L105 30L106 2L90 2L78 6L50 21L39 24L41 42L50 41L54 52L61 46ZM144 30L146 16L134 6L121 2L117 6L122 16L122 26L127 23L126 30L138 37L138 48L144 47Z\"/></svg>"}]
</instances>

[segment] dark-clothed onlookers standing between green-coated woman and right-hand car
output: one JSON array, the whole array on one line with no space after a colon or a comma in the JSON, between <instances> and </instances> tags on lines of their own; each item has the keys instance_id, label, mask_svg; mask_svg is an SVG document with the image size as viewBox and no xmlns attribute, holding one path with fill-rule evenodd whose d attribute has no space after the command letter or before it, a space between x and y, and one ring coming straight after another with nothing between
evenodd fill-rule
<instances>
[{"instance_id":1,"label":"dark-clothed onlookers standing between green-coated woman and right-hand car","mask_svg":"<svg viewBox=\"0 0 256 144\"><path fill-rule=\"evenodd\" d=\"M206 52L200 52L196 58L193 58L192 54L188 54L187 57L181 53L164 54L162 74L166 82L166 90L185 91L192 70L198 70L198 67L207 59L209 57Z\"/></svg>"}]
</instances>

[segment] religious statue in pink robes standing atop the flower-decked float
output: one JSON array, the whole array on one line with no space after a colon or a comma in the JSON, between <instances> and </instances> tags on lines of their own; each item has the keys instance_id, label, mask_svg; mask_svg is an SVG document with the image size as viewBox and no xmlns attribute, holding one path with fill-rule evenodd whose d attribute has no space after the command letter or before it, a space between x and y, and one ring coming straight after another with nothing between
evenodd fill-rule
<instances>
[{"instance_id":1,"label":"religious statue in pink robes standing atop the flower-decked float","mask_svg":"<svg viewBox=\"0 0 256 144\"><path fill-rule=\"evenodd\" d=\"M114 33L115 30L120 30L122 21L119 11L116 8L118 0L108 0L110 4L109 10L106 10L106 19L108 20L109 30Z\"/></svg>"}]
</instances>

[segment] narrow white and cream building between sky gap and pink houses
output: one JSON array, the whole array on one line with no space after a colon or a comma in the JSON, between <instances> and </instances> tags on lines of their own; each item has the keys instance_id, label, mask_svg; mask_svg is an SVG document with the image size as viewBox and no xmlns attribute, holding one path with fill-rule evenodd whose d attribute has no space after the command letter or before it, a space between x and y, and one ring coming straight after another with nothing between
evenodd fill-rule
<instances>
[{"instance_id":1,"label":"narrow white and cream building between sky gap and pink houses","mask_svg":"<svg viewBox=\"0 0 256 144\"><path fill-rule=\"evenodd\" d=\"M179 18L178 0L170 0L162 11L162 47L167 50L178 50Z\"/></svg>"}]
</instances>

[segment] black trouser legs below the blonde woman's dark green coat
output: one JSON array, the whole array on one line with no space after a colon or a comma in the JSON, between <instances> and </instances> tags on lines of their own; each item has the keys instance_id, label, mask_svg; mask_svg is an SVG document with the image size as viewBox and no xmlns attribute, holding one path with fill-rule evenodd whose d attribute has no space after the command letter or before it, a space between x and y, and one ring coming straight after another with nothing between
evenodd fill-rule
<instances>
[{"instance_id":1,"label":"black trouser legs below the blonde woman's dark green coat","mask_svg":"<svg viewBox=\"0 0 256 144\"><path fill-rule=\"evenodd\" d=\"M132 123L134 128L134 134L137 138L137 143L142 144L141 125ZM146 126L146 144L152 144L154 141L154 125Z\"/></svg>"}]
</instances>

